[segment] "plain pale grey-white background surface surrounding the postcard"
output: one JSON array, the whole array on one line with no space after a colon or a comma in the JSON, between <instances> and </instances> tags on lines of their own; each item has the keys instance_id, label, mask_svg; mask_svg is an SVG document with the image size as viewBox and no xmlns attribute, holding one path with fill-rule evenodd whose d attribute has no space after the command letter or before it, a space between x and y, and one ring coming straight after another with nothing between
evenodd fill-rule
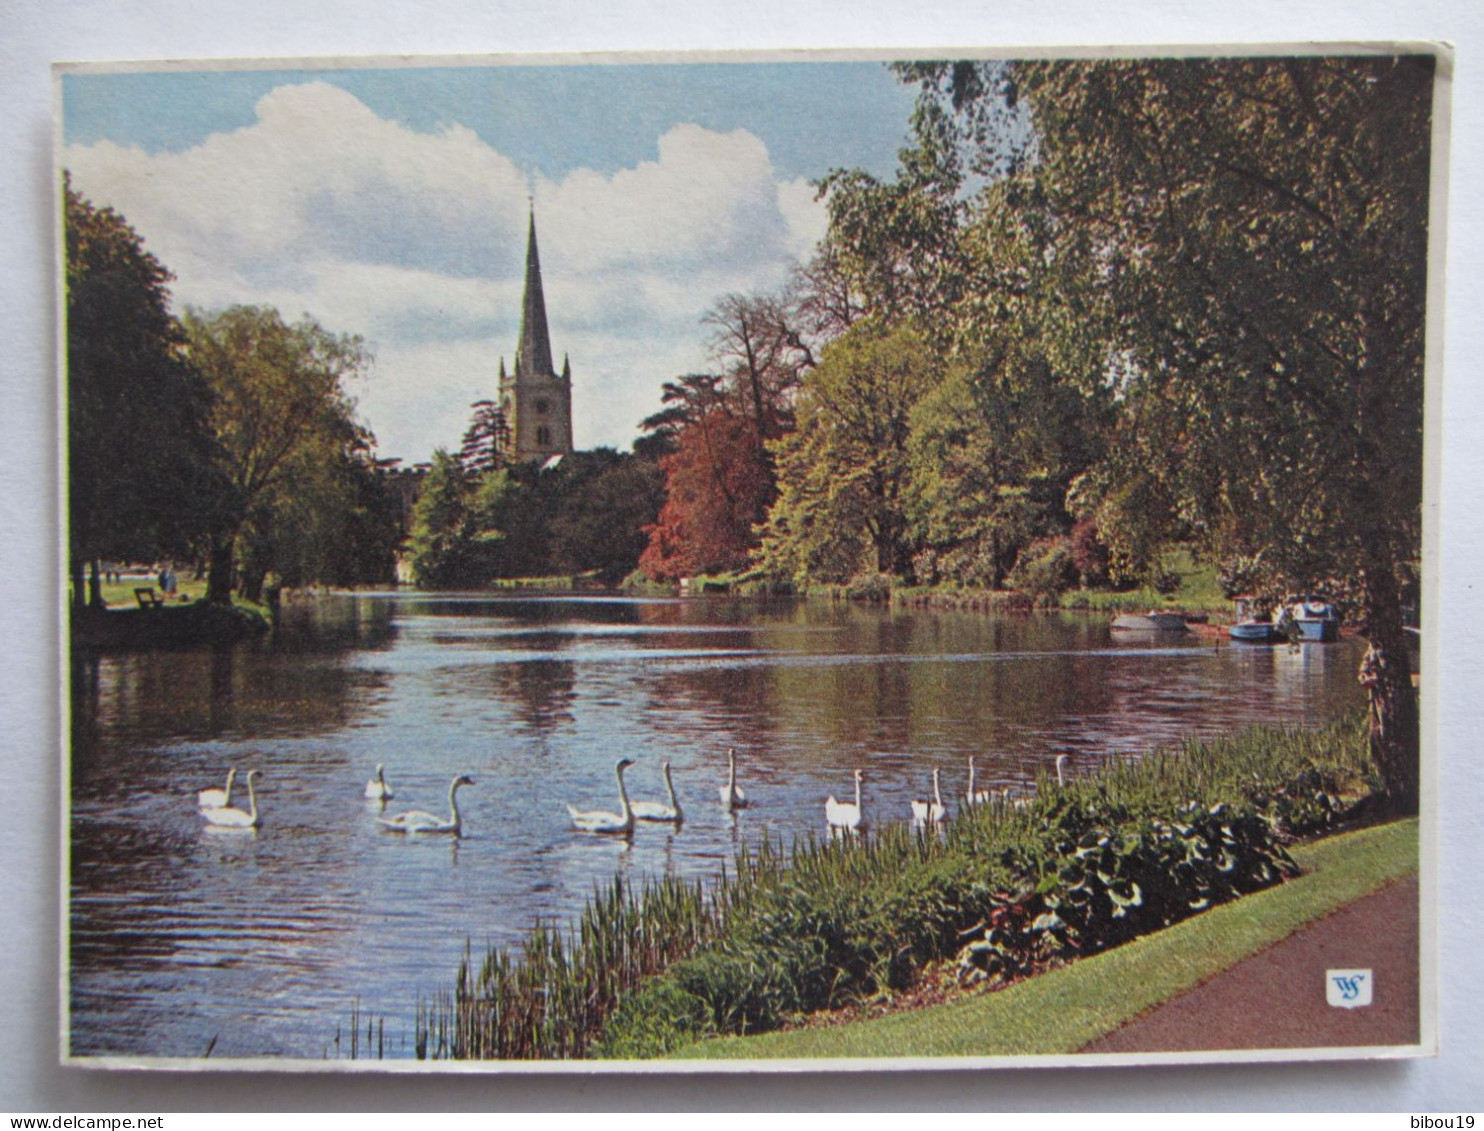
<instances>
[{"instance_id":1,"label":"plain pale grey-white background surface surrounding the postcard","mask_svg":"<svg viewBox=\"0 0 1484 1131\"><path fill-rule=\"evenodd\" d=\"M1076 39L1073 39L1076 37ZM552 50L1448 40L1457 49L1442 416L1438 707L1442 1055L1432 1061L787 1076L350 1078L102 1073L56 1066L58 790L52 61ZM1478 1107L1484 991L1475 940L1484 790L1484 10L1456 0L0 0L0 1109L1030 1109L1411 1110ZM1472 1085L1472 1086L1469 1086Z\"/></svg>"}]
</instances>

